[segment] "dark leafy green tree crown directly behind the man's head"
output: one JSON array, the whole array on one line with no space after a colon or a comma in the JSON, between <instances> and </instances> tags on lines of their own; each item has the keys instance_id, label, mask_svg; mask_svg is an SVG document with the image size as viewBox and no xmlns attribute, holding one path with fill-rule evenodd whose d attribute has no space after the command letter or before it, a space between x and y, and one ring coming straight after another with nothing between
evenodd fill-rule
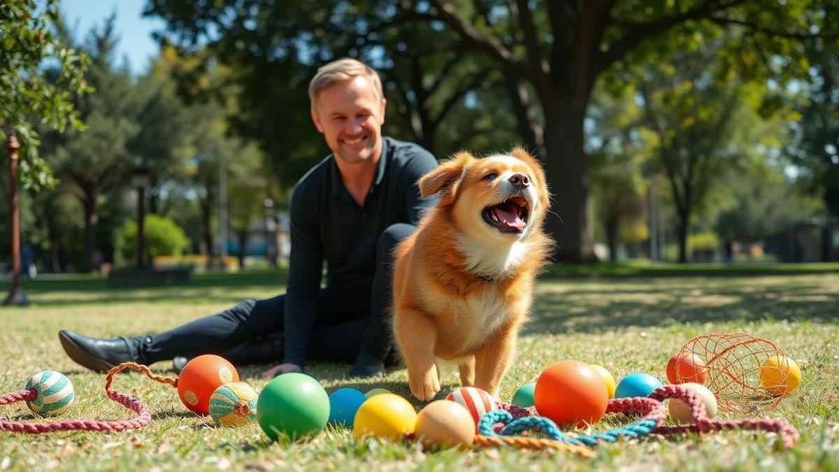
<instances>
[{"instance_id":1,"label":"dark leafy green tree crown directly behind the man's head","mask_svg":"<svg viewBox=\"0 0 839 472\"><path fill-rule=\"evenodd\" d=\"M491 61L458 53L439 28L380 20L403 9L395 3L246 2L227 13L216 7L162 0L150 2L148 13L166 19L165 41L185 56L176 72L181 92L222 102L235 95L237 109L227 110L232 131L261 144L285 188L328 152L305 113L305 88L315 68L336 57L373 65L388 98L384 132L419 142L435 155L521 143L509 90L524 103L521 116L535 120L532 109L524 109L528 96L520 82L508 86ZM221 28L220 34L208 37L195 18ZM224 81L206 80L208 72L222 68ZM535 138L526 143L539 147Z\"/></svg>"}]
</instances>

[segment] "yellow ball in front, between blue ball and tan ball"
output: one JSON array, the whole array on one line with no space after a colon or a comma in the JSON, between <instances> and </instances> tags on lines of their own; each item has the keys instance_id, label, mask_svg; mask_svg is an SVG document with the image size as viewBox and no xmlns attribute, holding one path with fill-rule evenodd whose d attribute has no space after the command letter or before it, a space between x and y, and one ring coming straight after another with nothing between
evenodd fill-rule
<instances>
[{"instance_id":1,"label":"yellow ball in front, between blue ball and tan ball","mask_svg":"<svg viewBox=\"0 0 839 472\"><path fill-rule=\"evenodd\" d=\"M413 433L417 422L414 406L399 395L380 393L371 396L358 408L353 430L357 439L367 435L401 441Z\"/></svg>"}]
</instances>

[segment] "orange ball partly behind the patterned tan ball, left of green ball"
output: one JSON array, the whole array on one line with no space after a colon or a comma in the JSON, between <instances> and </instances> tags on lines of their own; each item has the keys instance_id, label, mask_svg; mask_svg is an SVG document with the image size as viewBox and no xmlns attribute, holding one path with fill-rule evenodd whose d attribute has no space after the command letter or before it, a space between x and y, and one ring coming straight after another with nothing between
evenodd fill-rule
<instances>
[{"instance_id":1,"label":"orange ball partly behind the patterned tan ball, left of green ball","mask_svg":"<svg viewBox=\"0 0 839 472\"><path fill-rule=\"evenodd\" d=\"M210 397L221 385L239 381L239 373L227 359L204 354L190 360L178 376L178 396L191 411L210 414Z\"/></svg>"}]
</instances>

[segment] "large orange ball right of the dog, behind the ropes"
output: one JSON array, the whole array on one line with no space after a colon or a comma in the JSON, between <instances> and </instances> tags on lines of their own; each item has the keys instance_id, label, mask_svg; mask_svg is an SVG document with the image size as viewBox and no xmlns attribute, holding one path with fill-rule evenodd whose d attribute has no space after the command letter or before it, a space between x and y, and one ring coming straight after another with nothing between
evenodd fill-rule
<instances>
[{"instance_id":1,"label":"large orange ball right of the dog, behind the ropes","mask_svg":"<svg viewBox=\"0 0 839 472\"><path fill-rule=\"evenodd\" d=\"M583 427L606 414L609 392L594 367L565 359L550 364L536 380L536 411L560 427Z\"/></svg>"}]
</instances>

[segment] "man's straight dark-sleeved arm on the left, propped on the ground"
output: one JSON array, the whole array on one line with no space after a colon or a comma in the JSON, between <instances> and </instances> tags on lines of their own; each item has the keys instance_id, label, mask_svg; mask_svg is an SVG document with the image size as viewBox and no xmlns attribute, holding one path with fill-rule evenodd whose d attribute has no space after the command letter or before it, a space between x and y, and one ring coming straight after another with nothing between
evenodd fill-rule
<instances>
[{"instance_id":1,"label":"man's straight dark-sleeved arm on the left, propped on the ground","mask_svg":"<svg viewBox=\"0 0 839 472\"><path fill-rule=\"evenodd\" d=\"M299 186L291 197L289 210L291 255L285 293L284 362L300 367L305 362L315 326L323 272L323 244L320 243L319 224L312 203Z\"/></svg>"}]
</instances>

